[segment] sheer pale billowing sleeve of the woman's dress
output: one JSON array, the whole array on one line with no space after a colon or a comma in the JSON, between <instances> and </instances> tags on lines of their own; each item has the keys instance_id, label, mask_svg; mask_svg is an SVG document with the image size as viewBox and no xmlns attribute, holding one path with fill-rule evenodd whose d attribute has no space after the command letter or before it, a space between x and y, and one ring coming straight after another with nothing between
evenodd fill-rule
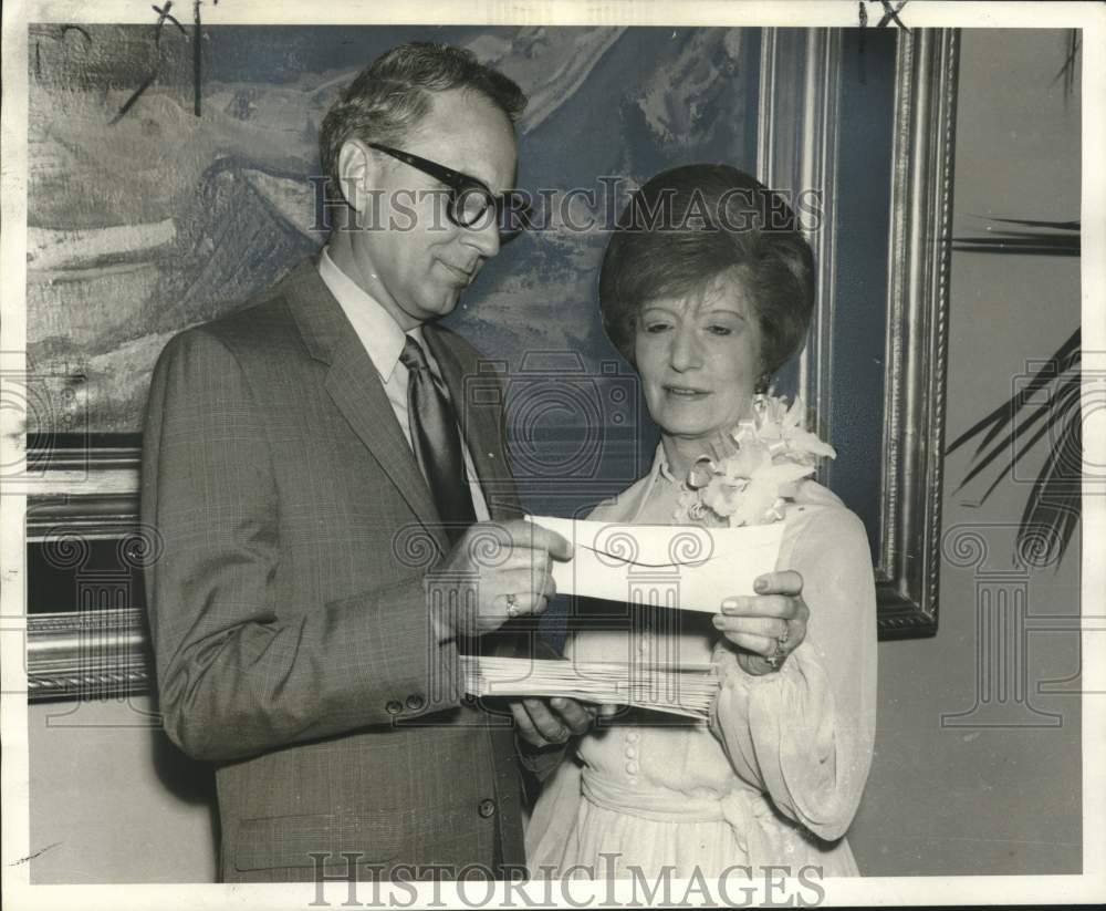
<instances>
[{"instance_id":1,"label":"sheer pale billowing sleeve of the woman's dress","mask_svg":"<svg viewBox=\"0 0 1106 911\"><path fill-rule=\"evenodd\" d=\"M711 726L741 778L834 840L859 806L875 737L876 598L863 524L825 510L801 532L792 568L811 610L806 639L763 676L742 671L721 640Z\"/></svg>"}]
</instances>

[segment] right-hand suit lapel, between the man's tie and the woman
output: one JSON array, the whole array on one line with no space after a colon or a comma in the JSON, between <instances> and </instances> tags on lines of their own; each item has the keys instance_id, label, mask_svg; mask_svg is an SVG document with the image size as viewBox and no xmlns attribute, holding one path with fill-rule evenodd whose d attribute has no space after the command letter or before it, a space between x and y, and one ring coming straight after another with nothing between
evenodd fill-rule
<instances>
[{"instance_id":1,"label":"right-hand suit lapel, between the man's tie and the woman","mask_svg":"<svg viewBox=\"0 0 1106 911\"><path fill-rule=\"evenodd\" d=\"M488 511L499 521L518 518L522 508L504 448L499 375L474 366L466 369L449 344L449 337L436 325L425 325L422 338L453 401Z\"/></svg>"}]
</instances>

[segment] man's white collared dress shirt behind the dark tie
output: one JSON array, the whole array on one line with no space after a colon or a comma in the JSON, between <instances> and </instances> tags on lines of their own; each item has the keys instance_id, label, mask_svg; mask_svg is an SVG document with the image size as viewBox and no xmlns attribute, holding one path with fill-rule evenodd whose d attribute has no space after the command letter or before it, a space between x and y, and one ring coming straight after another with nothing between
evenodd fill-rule
<instances>
[{"instance_id":1,"label":"man's white collared dress shirt behind the dark tie","mask_svg":"<svg viewBox=\"0 0 1106 911\"><path fill-rule=\"evenodd\" d=\"M323 248L319 257L319 275L337 299L346 318L353 324L354 332L364 345L373 366L380 377L384 392L388 396L388 404L396 414L396 421L404 432L407 445L411 445L411 429L408 418L407 407L407 377L408 370L399 361L406 344L407 335L418 342L426 354L430 372L438 383L442 383L441 371L438 362L434 359L430 349L422 340L422 327L417 325L407 333L399 328L399 323L393 319L371 294L364 290L331 259L326 248ZM445 385L442 383L442 385ZM456 405L455 405L456 408ZM465 459L465 476L469 479L469 493L472 495L472 509L476 513L477 521L488 521L488 504L480 488L480 479L477 477L476 468L472 464L472 455L469 453L468 443L463 433L458 428L461 438L461 455ZM411 449L414 452L414 447Z\"/></svg>"}]
</instances>

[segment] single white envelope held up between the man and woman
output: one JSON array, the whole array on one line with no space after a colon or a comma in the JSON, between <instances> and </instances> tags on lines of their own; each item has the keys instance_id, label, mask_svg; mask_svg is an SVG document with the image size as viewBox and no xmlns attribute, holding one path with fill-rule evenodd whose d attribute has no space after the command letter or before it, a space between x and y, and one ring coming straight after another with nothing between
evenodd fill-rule
<instances>
[{"instance_id":1,"label":"single white envelope held up between the man and woman","mask_svg":"<svg viewBox=\"0 0 1106 911\"><path fill-rule=\"evenodd\" d=\"M753 594L775 569L783 522L747 528L624 525L528 516L573 546L554 561L557 592L718 613L727 598Z\"/></svg>"}]
</instances>

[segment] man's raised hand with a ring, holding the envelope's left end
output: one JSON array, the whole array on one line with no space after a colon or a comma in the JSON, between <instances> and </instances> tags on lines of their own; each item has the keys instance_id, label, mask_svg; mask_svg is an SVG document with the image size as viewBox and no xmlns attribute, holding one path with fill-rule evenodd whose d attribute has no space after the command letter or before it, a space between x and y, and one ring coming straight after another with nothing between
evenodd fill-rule
<instances>
[{"instance_id":1,"label":"man's raised hand with a ring, holding the envelope's left end","mask_svg":"<svg viewBox=\"0 0 1106 911\"><path fill-rule=\"evenodd\" d=\"M470 526L428 578L460 579L477 592L476 610L434 618L439 639L494 632L508 620L540 614L556 594L553 560L572 558L571 545L555 531L515 519ZM461 604L468 602L462 597Z\"/></svg>"}]
</instances>

